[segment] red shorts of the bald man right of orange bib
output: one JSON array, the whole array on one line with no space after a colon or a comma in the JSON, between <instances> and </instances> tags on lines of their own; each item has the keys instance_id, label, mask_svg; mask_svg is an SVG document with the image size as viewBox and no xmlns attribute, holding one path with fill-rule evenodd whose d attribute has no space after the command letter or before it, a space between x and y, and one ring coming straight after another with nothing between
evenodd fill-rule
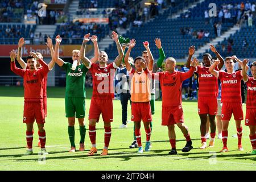
<instances>
[{"instance_id":1,"label":"red shorts of the bald man right of orange bib","mask_svg":"<svg viewBox=\"0 0 256 182\"><path fill-rule=\"evenodd\" d=\"M182 106L162 107L162 125L169 126L184 122Z\"/></svg>"}]
</instances>

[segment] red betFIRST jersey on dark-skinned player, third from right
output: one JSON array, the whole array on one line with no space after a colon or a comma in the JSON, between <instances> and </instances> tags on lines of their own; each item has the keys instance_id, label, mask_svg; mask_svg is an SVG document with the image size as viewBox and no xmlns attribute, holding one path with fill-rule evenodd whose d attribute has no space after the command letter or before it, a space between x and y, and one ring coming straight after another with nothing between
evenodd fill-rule
<instances>
[{"instance_id":1,"label":"red betFIRST jersey on dark-skinned player, third from right","mask_svg":"<svg viewBox=\"0 0 256 182\"><path fill-rule=\"evenodd\" d=\"M196 71L199 75L198 97L218 96L218 78L209 72L210 67L197 66ZM218 67L215 68L218 71Z\"/></svg>"}]
</instances>

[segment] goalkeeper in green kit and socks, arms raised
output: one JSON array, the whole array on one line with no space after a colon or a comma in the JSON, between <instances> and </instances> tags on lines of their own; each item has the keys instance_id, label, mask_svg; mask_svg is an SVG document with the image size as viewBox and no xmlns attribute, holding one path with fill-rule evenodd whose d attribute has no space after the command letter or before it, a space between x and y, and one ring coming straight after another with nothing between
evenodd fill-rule
<instances>
[{"instance_id":1,"label":"goalkeeper in green kit and socks, arms raised","mask_svg":"<svg viewBox=\"0 0 256 182\"><path fill-rule=\"evenodd\" d=\"M86 35L88 38L90 34ZM94 57L90 59L92 63L98 60L99 49L97 43L97 36L93 35L92 40L94 45ZM68 118L68 135L71 143L69 152L76 151L75 145L75 117L79 121L80 128L80 147L79 151L84 151L85 140L85 77L88 69L84 64L80 63L79 50L72 51L73 64L64 62L59 58L59 47L61 43L60 35L56 36L56 46L53 56L53 61L57 63L66 72L66 89L65 89L65 115Z\"/></svg>"}]
</instances>

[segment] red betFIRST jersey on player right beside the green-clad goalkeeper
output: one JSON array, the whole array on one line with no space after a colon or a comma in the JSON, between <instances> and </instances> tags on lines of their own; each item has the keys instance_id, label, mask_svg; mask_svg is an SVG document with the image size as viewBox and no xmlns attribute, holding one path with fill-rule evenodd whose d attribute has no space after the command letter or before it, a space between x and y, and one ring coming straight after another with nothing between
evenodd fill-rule
<instances>
[{"instance_id":1,"label":"red betFIRST jersey on player right beside the green-clad goalkeeper","mask_svg":"<svg viewBox=\"0 0 256 182\"><path fill-rule=\"evenodd\" d=\"M92 63L88 68L93 77L94 98L106 99L114 98L113 80L117 65L110 63L107 67L101 68L100 65Z\"/></svg>"}]
</instances>

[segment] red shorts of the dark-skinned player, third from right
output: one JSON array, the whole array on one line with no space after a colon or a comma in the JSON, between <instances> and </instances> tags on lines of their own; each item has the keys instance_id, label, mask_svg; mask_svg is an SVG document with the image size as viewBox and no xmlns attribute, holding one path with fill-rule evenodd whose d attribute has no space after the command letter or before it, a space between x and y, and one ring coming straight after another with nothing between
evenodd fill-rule
<instances>
[{"instance_id":1,"label":"red shorts of the dark-skinned player, third from right","mask_svg":"<svg viewBox=\"0 0 256 182\"><path fill-rule=\"evenodd\" d=\"M198 97L198 114L216 115L217 111L217 97Z\"/></svg>"}]
</instances>

